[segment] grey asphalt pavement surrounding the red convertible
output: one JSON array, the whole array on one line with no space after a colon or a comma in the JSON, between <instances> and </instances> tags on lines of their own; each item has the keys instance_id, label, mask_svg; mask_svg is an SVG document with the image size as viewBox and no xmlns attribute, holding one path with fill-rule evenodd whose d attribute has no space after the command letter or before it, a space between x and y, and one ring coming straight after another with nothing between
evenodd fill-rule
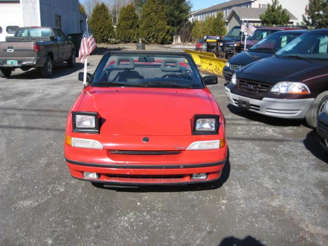
<instances>
[{"instance_id":1,"label":"grey asphalt pavement surrounding the red convertible","mask_svg":"<svg viewBox=\"0 0 328 246\"><path fill-rule=\"evenodd\" d=\"M106 48L88 58L93 72ZM302 120L228 105L229 160L212 186L100 189L64 161L67 112L83 88L56 65L0 78L0 245L327 245L328 153Z\"/></svg>"}]
</instances>

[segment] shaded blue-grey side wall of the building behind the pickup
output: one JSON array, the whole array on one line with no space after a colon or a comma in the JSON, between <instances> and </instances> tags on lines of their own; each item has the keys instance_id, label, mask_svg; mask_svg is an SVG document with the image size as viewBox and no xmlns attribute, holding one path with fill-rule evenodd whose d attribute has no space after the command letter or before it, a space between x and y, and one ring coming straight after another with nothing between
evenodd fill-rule
<instances>
[{"instance_id":1,"label":"shaded blue-grey side wall of the building behind the pickup","mask_svg":"<svg viewBox=\"0 0 328 246\"><path fill-rule=\"evenodd\" d=\"M42 26L55 27L56 15L61 18L61 30L65 34L79 33L78 0L39 0Z\"/></svg>"}]
</instances>

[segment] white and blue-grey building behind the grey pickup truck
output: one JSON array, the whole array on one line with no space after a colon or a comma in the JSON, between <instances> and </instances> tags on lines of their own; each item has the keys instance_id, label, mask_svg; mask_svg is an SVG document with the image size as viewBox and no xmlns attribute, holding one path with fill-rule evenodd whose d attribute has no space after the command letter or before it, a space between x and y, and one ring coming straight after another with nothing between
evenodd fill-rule
<instances>
[{"instance_id":1,"label":"white and blue-grey building behind the grey pickup truck","mask_svg":"<svg viewBox=\"0 0 328 246\"><path fill-rule=\"evenodd\" d=\"M72 34L81 33L85 22L78 0L0 0L0 41L13 36L17 27L58 27Z\"/></svg>"}]
</instances>

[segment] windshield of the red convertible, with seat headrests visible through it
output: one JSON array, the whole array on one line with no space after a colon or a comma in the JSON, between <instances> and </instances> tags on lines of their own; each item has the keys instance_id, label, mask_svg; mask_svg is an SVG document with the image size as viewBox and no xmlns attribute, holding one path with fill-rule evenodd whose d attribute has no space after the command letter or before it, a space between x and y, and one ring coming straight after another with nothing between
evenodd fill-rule
<instances>
[{"instance_id":1,"label":"windshield of the red convertible, with seat headrests visible through it","mask_svg":"<svg viewBox=\"0 0 328 246\"><path fill-rule=\"evenodd\" d=\"M105 55L91 86L204 88L188 56L133 53Z\"/></svg>"}]
</instances>

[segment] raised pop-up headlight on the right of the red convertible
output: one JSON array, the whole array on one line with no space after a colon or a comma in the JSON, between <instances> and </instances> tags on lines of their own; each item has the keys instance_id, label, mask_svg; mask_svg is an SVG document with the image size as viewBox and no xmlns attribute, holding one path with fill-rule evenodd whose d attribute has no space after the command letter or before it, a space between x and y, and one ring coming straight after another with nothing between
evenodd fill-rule
<instances>
[{"instance_id":1,"label":"raised pop-up headlight on the right of the red convertible","mask_svg":"<svg viewBox=\"0 0 328 246\"><path fill-rule=\"evenodd\" d=\"M219 115L194 115L192 124L192 135L218 134Z\"/></svg>"}]
</instances>

